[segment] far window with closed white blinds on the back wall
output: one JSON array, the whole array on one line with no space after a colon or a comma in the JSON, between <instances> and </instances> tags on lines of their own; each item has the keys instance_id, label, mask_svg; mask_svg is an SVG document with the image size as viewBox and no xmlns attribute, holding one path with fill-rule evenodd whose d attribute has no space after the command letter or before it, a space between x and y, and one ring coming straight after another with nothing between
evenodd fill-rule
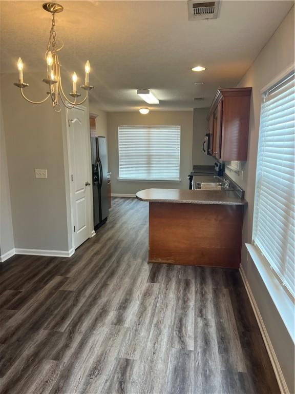
<instances>
[{"instance_id":1,"label":"far window with closed white blinds on the back wall","mask_svg":"<svg viewBox=\"0 0 295 394\"><path fill-rule=\"evenodd\" d=\"M180 126L119 126L119 178L179 180Z\"/></svg>"}]
</instances>

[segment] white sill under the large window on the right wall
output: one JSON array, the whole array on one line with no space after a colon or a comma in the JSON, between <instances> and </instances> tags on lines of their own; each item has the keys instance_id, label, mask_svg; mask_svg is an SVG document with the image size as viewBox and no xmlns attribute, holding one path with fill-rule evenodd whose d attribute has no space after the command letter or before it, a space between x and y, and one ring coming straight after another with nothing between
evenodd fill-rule
<instances>
[{"instance_id":1,"label":"white sill under the large window on the right wall","mask_svg":"<svg viewBox=\"0 0 295 394\"><path fill-rule=\"evenodd\" d=\"M258 272L267 288L267 291L275 304L278 312L292 338L293 342L295 342L295 334L294 334L294 322L293 322L293 313L294 313L294 304L290 299L289 295L282 288L279 280L275 277L273 272L271 272L271 268L265 257L261 254L261 252L257 249L256 246L251 244L245 244L248 250L248 253L256 265Z\"/></svg>"}]
</instances>

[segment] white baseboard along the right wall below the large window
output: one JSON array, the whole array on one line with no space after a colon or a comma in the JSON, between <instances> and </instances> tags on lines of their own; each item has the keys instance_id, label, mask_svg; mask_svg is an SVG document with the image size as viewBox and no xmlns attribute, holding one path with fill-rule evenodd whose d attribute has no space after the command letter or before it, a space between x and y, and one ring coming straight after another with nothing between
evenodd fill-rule
<instances>
[{"instance_id":1,"label":"white baseboard along the right wall below the large window","mask_svg":"<svg viewBox=\"0 0 295 394\"><path fill-rule=\"evenodd\" d=\"M270 338L267 333L267 329L264 325L261 313L258 309L257 303L255 301L254 295L251 291L250 285L247 281L247 278L246 278L246 275L245 275L245 272L244 272L242 266L240 266L240 273L241 273L241 277L244 282L252 309L254 311L254 314L255 314L255 317L256 317L256 320L257 320L257 323L258 323L258 326L259 326L259 329L260 329L260 332L261 332L261 335L262 335L262 338L263 338L263 341L264 341L264 344L265 344L265 347L266 347L266 350L267 350L267 353L268 353L268 356L269 356L269 359L270 359L270 362L271 362L271 365L273 368L273 371L275 372L280 391L282 394L290 394L290 391L289 391L287 383L285 381L285 378L284 378L281 366L279 364L275 349L273 349L273 346L271 344Z\"/></svg>"}]
</instances>

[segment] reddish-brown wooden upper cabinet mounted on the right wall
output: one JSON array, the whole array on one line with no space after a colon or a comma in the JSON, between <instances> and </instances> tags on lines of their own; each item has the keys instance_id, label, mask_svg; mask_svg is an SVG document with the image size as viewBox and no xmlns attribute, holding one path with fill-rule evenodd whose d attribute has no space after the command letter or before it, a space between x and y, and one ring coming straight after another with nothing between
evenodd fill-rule
<instances>
[{"instance_id":1,"label":"reddish-brown wooden upper cabinet mounted on the right wall","mask_svg":"<svg viewBox=\"0 0 295 394\"><path fill-rule=\"evenodd\" d=\"M208 113L208 153L222 161L247 160L252 88L218 89Z\"/></svg>"}]
</instances>

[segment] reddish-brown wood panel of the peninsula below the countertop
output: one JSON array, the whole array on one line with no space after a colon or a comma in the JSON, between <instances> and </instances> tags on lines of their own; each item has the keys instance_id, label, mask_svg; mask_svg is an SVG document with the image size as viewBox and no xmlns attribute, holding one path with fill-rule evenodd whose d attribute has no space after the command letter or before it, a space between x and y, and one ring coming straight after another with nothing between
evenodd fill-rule
<instances>
[{"instance_id":1,"label":"reddish-brown wood panel of the peninsula below the countertop","mask_svg":"<svg viewBox=\"0 0 295 394\"><path fill-rule=\"evenodd\" d=\"M239 268L243 206L151 203L149 262Z\"/></svg>"}]
</instances>

